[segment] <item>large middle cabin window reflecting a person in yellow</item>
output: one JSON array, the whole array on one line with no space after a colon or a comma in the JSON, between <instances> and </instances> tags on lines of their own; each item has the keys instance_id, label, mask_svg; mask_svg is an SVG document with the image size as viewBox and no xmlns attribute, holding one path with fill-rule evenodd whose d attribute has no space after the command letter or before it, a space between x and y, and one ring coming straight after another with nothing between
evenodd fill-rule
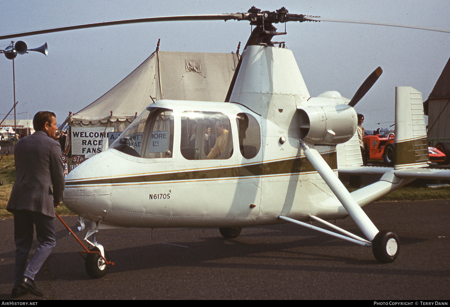
<instances>
[{"instance_id":1,"label":"large middle cabin window reflecting a person in yellow","mask_svg":"<svg viewBox=\"0 0 450 307\"><path fill-rule=\"evenodd\" d=\"M229 118L219 112L183 112L180 150L188 160L229 159L233 154Z\"/></svg>"}]
</instances>

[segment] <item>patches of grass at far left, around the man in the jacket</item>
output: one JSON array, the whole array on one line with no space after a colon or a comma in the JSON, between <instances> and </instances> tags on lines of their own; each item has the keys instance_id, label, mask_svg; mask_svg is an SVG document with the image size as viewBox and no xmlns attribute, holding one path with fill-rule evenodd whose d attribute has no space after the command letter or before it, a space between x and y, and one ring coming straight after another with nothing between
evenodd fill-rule
<instances>
[{"instance_id":1,"label":"patches of grass at far left, around the man in the jacket","mask_svg":"<svg viewBox=\"0 0 450 307\"><path fill-rule=\"evenodd\" d=\"M14 163L14 156L4 156L0 161L0 169L3 167ZM7 169L0 171L0 181L3 185L0 185L0 218L13 217L11 212L6 211L6 205L8 204L9 196L11 195L11 190L13 189L14 181L16 180L16 167L14 164L9 166ZM56 212L59 215L76 215L64 205L58 206Z\"/></svg>"}]
</instances>

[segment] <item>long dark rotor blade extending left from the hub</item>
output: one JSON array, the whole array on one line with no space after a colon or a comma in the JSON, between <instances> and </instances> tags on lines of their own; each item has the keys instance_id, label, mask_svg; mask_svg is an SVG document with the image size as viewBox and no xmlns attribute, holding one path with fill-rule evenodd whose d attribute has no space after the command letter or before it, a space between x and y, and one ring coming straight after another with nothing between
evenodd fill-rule
<instances>
[{"instance_id":1,"label":"long dark rotor blade extending left from the hub","mask_svg":"<svg viewBox=\"0 0 450 307\"><path fill-rule=\"evenodd\" d=\"M94 27L106 27L106 26L114 26L120 24L128 24L128 23L153 23L159 21L190 21L190 20L243 20L248 18L247 13L236 13L236 14L219 14L219 15L184 15L184 16L164 16L164 17L148 17L148 18L135 18L135 19L124 19L124 20L113 20L106 21L100 23L85 23L76 26L67 26L67 27L58 27L58 28L49 28L44 30L35 30L28 32L20 32L20 33L12 33L5 34L0 36L0 40L14 38L14 37L22 37L22 36L31 36L37 34L45 34L45 33L53 33L53 32L62 32L76 29L86 29L86 28L94 28Z\"/></svg>"}]
</instances>

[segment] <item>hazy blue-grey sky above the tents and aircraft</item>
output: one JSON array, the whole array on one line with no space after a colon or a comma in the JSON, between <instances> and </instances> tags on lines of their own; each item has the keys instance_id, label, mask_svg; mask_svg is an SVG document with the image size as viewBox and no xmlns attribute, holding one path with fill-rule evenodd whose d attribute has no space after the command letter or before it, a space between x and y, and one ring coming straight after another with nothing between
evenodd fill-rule
<instances>
[{"instance_id":1,"label":"hazy blue-grey sky above the tents and aircraft","mask_svg":"<svg viewBox=\"0 0 450 307\"><path fill-rule=\"evenodd\" d=\"M328 18L406 23L450 28L446 1L13 1L2 0L1 34L127 18L246 12L286 7L290 13ZM283 25L278 26L281 30ZM383 75L356 105L366 129L394 121L395 86L413 86L427 99L449 59L450 33L348 23L288 23L283 37L312 96L338 90L351 98L375 68ZM14 39L37 52L15 59L17 112L48 109L61 122L99 98L156 48L194 52L232 52L250 34L247 22L165 22L50 33ZM277 38L278 40L279 38ZM0 41L0 49L10 40ZM0 113L13 105L12 61L0 58ZM18 118L26 118L21 114ZM4 117L4 116L0 116ZM14 118L14 117L8 117ZM388 126L384 124L381 126Z\"/></svg>"}]
</instances>

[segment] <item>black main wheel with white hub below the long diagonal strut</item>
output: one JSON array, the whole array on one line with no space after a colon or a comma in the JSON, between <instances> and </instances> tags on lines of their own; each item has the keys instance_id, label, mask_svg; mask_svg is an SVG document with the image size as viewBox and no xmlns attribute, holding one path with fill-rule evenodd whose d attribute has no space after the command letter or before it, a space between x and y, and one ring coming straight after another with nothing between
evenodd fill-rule
<instances>
[{"instance_id":1,"label":"black main wheel with white hub below the long diagonal strut","mask_svg":"<svg viewBox=\"0 0 450 307\"><path fill-rule=\"evenodd\" d=\"M395 233L389 230L378 232L372 240L372 252L381 263L394 262L400 252L400 244Z\"/></svg>"}]
</instances>

